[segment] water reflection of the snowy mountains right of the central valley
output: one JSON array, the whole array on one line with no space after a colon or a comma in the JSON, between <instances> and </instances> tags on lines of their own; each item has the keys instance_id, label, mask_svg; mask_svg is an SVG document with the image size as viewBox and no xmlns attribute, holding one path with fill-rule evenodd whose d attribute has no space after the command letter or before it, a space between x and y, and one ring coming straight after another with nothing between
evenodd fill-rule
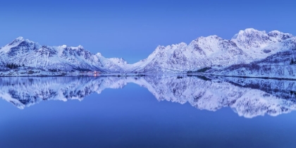
<instances>
[{"instance_id":1,"label":"water reflection of the snowy mountains right of the central valley","mask_svg":"<svg viewBox=\"0 0 296 148\"><path fill-rule=\"evenodd\" d=\"M246 118L263 116L265 113L277 116L296 109L296 104L294 103L296 96L290 95L287 98L285 92L281 93L284 91L282 89L286 89L284 86L289 81L281 82L284 84L278 86L277 90L270 90L265 87L262 91L252 89L252 85L250 87L239 87L232 85L230 82L202 80L195 77L145 77L145 79L148 82L147 84L149 84L147 85L148 90L157 99L178 102L180 104L189 102L197 109L216 111L222 107L229 106L240 116L245 116ZM276 82L276 80L254 80L254 82L259 84L262 81L269 85ZM295 82L292 83L296 85ZM296 88L290 89L291 91L296 90ZM285 96L285 99L281 99L282 95Z\"/></svg>"}]
</instances>

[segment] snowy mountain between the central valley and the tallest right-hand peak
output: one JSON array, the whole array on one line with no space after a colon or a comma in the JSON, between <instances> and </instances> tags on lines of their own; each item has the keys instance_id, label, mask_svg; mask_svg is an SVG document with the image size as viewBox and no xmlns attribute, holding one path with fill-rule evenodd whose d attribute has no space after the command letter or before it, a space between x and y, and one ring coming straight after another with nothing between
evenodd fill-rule
<instances>
[{"instance_id":1,"label":"snowy mountain between the central valley and the tallest right-hand peak","mask_svg":"<svg viewBox=\"0 0 296 148\"><path fill-rule=\"evenodd\" d=\"M133 64L133 69L130 71L182 72L250 61L252 58L234 42L209 36L199 37L188 45L180 43L167 47L159 46L148 58Z\"/></svg>"}]
</instances>

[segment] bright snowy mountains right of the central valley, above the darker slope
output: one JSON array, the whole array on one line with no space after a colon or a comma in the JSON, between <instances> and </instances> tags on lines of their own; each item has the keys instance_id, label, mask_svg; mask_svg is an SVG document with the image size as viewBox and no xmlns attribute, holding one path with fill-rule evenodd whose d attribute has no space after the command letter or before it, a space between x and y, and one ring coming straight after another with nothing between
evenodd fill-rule
<instances>
[{"instance_id":1,"label":"bright snowy mountains right of the central valley, above the darker slope","mask_svg":"<svg viewBox=\"0 0 296 148\"><path fill-rule=\"evenodd\" d=\"M296 49L296 37L279 31L240 30L232 39L199 37L190 44L159 46L130 71L182 72L204 67L225 68L259 61L280 51Z\"/></svg>"}]
</instances>

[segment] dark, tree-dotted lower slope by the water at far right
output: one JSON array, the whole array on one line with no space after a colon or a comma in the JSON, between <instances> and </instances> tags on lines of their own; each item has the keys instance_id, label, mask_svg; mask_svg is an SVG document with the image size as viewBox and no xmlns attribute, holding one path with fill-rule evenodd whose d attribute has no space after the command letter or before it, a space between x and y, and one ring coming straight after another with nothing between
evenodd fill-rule
<instances>
[{"instance_id":1,"label":"dark, tree-dotted lower slope by the water at far right","mask_svg":"<svg viewBox=\"0 0 296 148\"><path fill-rule=\"evenodd\" d=\"M250 64L237 64L222 69L214 68L207 70L206 73L253 78L296 79L296 49L280 51Z\"/></svg>"}]
</instances>

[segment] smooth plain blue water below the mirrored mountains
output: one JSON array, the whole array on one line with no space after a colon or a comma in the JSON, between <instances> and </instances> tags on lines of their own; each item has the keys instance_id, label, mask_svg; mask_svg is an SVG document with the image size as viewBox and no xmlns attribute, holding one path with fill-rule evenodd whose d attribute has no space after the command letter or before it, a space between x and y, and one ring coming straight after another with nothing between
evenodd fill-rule
<instances>
[{"instance_id":1,"label":"smooth plain blue water below the mirrored mountains","mask_svg":"<svg viewBox=\"0 0 296 148\"><path fill-rule=\"evenodd\" d=\"M230 107L158 101L132 82L82 101L48 99L24 109L0 100L0 112L1 148L296 147L296 111L245 118Z\"/></svg>"}]
</instances>

